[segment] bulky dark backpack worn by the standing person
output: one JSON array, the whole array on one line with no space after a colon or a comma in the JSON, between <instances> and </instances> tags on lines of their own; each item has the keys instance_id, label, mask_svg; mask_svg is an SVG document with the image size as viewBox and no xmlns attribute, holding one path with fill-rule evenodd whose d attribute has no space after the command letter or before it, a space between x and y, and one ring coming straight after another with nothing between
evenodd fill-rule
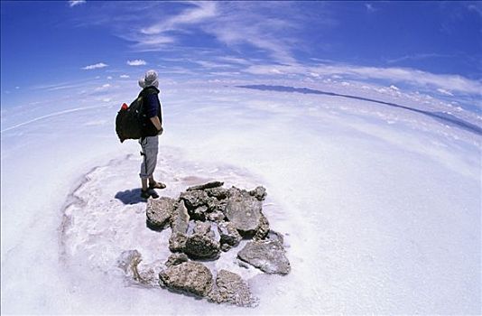
<instances>
[{"instance_id":1,"label":"bulky dark backpack worn by the standing person","mask_svg":"<svg viewBox=\"0 0 482 316\"><path fill-rule=\"evenodd\" d=\"M134 99L129 107L124 104L116 116L116 133L121 143L143 136L143 98Z\"/></svg>"}]
</instances>

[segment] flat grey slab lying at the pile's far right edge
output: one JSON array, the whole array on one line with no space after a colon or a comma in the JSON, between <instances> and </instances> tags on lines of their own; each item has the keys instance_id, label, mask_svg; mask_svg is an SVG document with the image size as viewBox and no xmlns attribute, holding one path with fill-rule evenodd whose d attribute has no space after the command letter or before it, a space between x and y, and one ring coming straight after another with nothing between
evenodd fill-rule
<instances>
[{"instance_id":1,"label":"flat grey slab lying at the pile's far right edge","mask_svg":"<svg viewBox=\"0 0 482 316\"><path fill-rule=\"evenodd\" d=\"M279 241L250 241L237 257L267 274L288 274L291 270Z\"/></svg>"}]
</instances>

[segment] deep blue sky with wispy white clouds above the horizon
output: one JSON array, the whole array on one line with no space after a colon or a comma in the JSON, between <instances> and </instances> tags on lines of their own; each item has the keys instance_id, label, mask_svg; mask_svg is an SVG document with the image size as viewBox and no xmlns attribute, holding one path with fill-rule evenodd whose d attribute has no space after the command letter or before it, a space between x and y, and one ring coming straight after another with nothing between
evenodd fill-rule
<instances>
[{"instance_id":1,"label":"deep blue sky with wispy white clouds above the horizon","mask_svg":"<svg viewBox=\"0 0 482 316\"><path fill-rule=\"evenodd\" d=\"M98 76L482 87L480 2L1 2L2 99ZM478 90L478 91L477 91Z\"/></svg>"}]
</instances>

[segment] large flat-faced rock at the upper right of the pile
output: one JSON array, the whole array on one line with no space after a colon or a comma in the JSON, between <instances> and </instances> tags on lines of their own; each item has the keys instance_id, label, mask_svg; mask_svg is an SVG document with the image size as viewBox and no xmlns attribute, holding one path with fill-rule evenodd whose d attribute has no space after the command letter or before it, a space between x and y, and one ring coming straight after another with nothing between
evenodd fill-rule
<instances>
[{"instance_id":1,"label":"large flat-faced rock at the upper right of the pile","mask_svg":"<svg viewBox=\"0 0 482 316\"><path fill-rule=\"evenodd\" d=\"M253 236L262 218L261 201L247 191L240 191L234 187L229 190L232 194L227 200L226 218L233 223L242 236Z\"/></svg>"}]
</instances>

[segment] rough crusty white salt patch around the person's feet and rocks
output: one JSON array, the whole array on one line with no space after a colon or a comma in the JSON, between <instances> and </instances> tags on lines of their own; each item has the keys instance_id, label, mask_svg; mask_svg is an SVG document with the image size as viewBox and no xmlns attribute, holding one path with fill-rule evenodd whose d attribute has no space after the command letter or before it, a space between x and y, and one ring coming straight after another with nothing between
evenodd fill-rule
<instances>
[{"instance_id":1,"label":"rough crusty white salt patch around the person's feet and rocks","mask_svg":"<svg viewBox=\"0 0 482 316\"><path fill-rule=\"evenodd\" d=\"M158 162L160 181L167 188L158 191L161 196L177 199L181 191L191 185L206 181L224 181L225 187L236 185L253 189L260 184L255 176L230 166L182 162L173 149L162 149ZM127 155L99 166L88 172L79 187L70 193L60 227L61 260L65 265L82 265L84 269L97 270L103 274L123 277L118 259L127 250L137 250L142 255L139 270L153 268L158 273L171 255L168 240L171 228L155 231L146 227L145 203L137 198L135 177L126 177L138 172L139 160ZM128 179L128 180L127 180ZM116 198L117 197L117 198ZM266 202L270 208L275 202ZM217 231L217 230L215 230ZM237 252L246 245L222 252L218 260L202 260L211 272L225 269L248 280L261 271L249 265L239 265ZM130 278L127 279L129 283Z\"/></svg>"}]
</instances>

